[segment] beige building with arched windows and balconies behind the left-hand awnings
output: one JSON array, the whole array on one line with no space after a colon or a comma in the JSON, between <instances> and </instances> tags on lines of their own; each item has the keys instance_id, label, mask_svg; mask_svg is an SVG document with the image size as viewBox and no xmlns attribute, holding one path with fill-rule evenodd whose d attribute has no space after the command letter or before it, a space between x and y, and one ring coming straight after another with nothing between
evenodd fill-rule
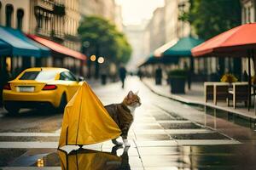
<instances>
[{"instance_id":1,"label":"beige building with arched windows and balconies behind the left-hand awnings","mask_svg":"<svg viewBox=\"0 0 256 170\"><path fill-rule=\"evenodd\" d=\"M67 48L80 51L77 35L79 20L79 0L1 0L0 25L20 29L35 34ZM23 70L31 66L67 67L79 73L80 60L71 57L51 56L11 58L12 70ZM18 68L18 69L17 69Z\"/></svg>"}]
</instances>

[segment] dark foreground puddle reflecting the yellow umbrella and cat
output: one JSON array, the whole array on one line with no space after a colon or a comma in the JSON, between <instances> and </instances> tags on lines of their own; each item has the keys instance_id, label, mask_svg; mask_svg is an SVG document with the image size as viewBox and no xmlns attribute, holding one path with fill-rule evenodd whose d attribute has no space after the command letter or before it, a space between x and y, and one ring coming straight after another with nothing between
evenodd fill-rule
<instances>
[{"instance_id":1,"label":"dark foreground puddle reflecting the yellow umbrella and cat","mask_svg":"<svg viewBox=\"0 0 256 170\"><path fill-rule=\"evenodd\" d=\"M32 149L0 150L0 167L61 167L61 169L130 169L142 167L139 156L128 156L128 149L115 146L111 152L79 149L69 154L65 150ZM117 155L117 152L119 155ZM3 156L5 154L5 156Z\"/></svg>"}]
</instances>

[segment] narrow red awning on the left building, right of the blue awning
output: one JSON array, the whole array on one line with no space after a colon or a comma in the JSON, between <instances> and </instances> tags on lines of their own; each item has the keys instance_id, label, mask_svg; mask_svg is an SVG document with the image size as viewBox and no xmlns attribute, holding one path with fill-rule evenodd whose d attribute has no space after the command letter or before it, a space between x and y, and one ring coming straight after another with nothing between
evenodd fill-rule
<instances>
[{"instance_id":1,"label":"narrow red awning on the left building, right of the blue awning","mask_svg":"<svg viewBox=\"0 0 256 170\"><path fill-rule=\"evenodd\" d=\"M51 50L53 50L55 53L58 54L63 54L65 56L69 56L69 57L73 57L76 59L82 59L85 60L86 56L84 54L81 54L77 51L74 51L73 49L70 48L66 48L64 46L62 46L59 43L56 42L52 42L50 40L44 39L42 37L38 37L32 34L26 34L27 37L31 38L32 40L39 42L41 44L43 44L44 46L50 48Z\"/></svg>"}]
</instances>

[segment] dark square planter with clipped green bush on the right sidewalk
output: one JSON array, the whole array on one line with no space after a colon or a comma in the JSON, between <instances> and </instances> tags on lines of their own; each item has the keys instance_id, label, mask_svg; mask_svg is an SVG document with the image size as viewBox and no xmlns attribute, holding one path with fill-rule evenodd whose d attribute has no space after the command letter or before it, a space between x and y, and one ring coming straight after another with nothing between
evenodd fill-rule
<instances>
[{"instance_id":1,"label":"dark square planter with clipped green bush on the right sidewalk","mask_svg":"<svg viewBox=\"0 0 256 170\"><path fill-rule=\"evenodd\" d=\"M187 71L172 70L168 72L168 79L171 85L172 94L185 94L185 82L187 78Z\"/></svg>"}]
</instances>

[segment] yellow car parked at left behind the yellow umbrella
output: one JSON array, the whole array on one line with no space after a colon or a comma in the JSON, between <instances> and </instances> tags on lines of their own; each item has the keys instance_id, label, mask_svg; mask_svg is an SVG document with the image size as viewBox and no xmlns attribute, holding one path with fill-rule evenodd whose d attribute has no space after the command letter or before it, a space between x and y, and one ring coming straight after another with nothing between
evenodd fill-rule
<instances>
[{"instance_id":1,"label":"yellow car parked at left behind the yellow umbrella","mask_svg":"<svg viewBox=\"0 0 256 170\"><path fill-rule=\"evenodd\" d=\"M63 111L82 81L64 68L29 68L4 86L3 106L10 114L49 106Z\"/></svg>"}]
</instances>

